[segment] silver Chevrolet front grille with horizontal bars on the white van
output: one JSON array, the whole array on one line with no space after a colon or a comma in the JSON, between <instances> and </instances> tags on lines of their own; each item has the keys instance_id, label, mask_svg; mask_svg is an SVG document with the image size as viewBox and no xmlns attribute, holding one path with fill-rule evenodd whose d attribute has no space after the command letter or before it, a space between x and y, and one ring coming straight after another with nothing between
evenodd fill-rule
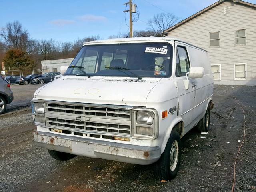
<instances>
[{"instance_id":1,"label":"silver Chevrolet front grille with horizontal bars on the white van","mask_svg":"<svg viewBox=\"0 0 256 192\"><path fill-rule=\"evenodd\" d=\"M46 126L50 131L95 138L132 136L130 113L126 108L45 104Z\"/></svg>"}]
</instances>

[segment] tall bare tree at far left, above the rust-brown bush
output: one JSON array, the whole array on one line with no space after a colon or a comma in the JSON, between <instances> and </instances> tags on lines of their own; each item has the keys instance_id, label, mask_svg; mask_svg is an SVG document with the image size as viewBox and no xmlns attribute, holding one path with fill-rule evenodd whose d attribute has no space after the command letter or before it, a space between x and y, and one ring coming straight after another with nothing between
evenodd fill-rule
<instances>
[{"instance_id":1,"label":"tall bare tree at far left, above the rust-brown bush","mask_svg":"<svg viewBox=\"0 0 256 192\"><path fill-rule=\"evenodd\" d=\"M9 22L0 31L0 38L4 40L7 48L26 51L28 48L28 31L25 30L17 20Z\"/></svg>"}]
</instances>

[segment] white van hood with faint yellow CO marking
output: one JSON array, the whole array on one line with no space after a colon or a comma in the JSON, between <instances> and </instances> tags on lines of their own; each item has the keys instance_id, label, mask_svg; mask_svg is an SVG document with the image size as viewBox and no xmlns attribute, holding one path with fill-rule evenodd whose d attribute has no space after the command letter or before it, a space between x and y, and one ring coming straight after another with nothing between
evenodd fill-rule
<instances>
[{"instance_id":1,"label":"white van hood with faint yellow CO marking","mask_svg":"<svg viewBox=\"0 0 256 192\"><path fill-rule=\"evenodd\" d=\"M64 77L36 90L38 99L146 107L146 98L160 80Z\"/></svg>"}]
</instances>

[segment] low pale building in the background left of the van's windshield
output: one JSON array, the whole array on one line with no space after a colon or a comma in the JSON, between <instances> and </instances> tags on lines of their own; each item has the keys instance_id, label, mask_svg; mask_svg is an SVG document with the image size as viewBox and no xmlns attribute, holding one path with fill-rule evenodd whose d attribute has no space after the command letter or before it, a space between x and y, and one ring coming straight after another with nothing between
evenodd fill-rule
<instances>
[{"instance_id":1,"label":"low pale building in the background left of the van's windshield","mask_svg":"<svg viewBox=\"0 0 256 192\"><path fill-rule=\"evenodd\" d=\"M41 61L42 74L46 72L60 72L60 66L70 65L73 59L74 58Z\"/></svg>"}]
</instances>

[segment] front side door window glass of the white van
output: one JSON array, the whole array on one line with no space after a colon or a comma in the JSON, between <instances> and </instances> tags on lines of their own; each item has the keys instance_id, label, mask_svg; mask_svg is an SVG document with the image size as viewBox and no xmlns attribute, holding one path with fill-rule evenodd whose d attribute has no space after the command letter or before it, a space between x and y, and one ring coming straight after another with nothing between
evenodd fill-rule
<instances>
[{"instance_id":1,"label":"front side door window glass of the white van","mask_svg":"<svg viewBox=\"0 0 256 192\"><path fill-rule=\"evenodd\" d=\"M186 73L189 72L189 59L186 48L177 47L177 55L176 55L176 77L186 76Z\"/></svg>"}]
</instances>

